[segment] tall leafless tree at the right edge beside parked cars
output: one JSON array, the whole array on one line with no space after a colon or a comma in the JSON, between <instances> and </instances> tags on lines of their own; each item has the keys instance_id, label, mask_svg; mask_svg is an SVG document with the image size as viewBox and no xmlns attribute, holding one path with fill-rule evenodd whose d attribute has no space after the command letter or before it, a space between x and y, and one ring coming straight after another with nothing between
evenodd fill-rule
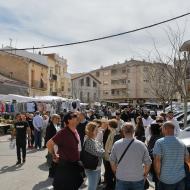
<instances>
[{"instance_id":1,"label":"tall leafless tree at the right edge beside parked cars","mask_svg":"<svg viewBox=\"0 0 190 190\"><path fill-rule=\"evenodd\" d=\"M167 70L172 81L174 81L177 92L184 102L184 127L187 127L187 101L190 98L187 71L190 65L190 55L189 52L184 53L181 51L184 32L181 32L179 27L177 31L168 27L167 36L171 45L171 54L161 56L155 45L158 55L157 60L165 65L165 70Z\"/></svg>"}]
</instances>

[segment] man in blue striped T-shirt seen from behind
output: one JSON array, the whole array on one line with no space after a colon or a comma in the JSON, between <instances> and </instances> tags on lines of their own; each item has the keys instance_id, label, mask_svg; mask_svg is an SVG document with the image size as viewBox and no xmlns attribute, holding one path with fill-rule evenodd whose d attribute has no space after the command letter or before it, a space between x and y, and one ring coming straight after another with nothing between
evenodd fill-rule
<instances>
[{"instance_id":1,"label":"man in blue striped T-shirt seen from behind","mask_svg":"<svg viewBox=\"0 0 190 190\"><path fill-rule=\"evenodd\" d=\"M186 146L174 135L173 122L162 126L163 138L156 141L153 156L160 190L185 190L184 161L189 162Z\"/></svg>"}]
</instances>

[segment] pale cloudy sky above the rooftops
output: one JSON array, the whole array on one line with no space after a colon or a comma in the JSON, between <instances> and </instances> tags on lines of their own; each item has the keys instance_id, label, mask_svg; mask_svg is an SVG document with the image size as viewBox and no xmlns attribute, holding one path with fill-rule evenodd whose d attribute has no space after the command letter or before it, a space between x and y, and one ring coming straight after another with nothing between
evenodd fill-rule
<instances>
[{"instance_id":1,"label":"pale cloudy sky above the rooftops","mask_svg":"<svg viewBox=\"0 0 190 190\"><path fill-rule=\"evenodd\" d=\"M190 1L180 0L6 0L0 5L0 45L17 48L62 44L160 22L190 12ZM58 53L68 60L70 72L86 72L124 62L146 59L154 51L167 54L170 44L167 28L190 36L190 16L144 31L104 41L42 50Z\"/></svg>"}]
</instances>

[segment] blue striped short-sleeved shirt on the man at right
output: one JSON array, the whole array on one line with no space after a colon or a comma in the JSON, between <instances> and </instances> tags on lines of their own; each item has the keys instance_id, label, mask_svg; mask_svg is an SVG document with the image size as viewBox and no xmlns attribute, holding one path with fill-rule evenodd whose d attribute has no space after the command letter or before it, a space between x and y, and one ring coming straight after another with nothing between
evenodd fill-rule
<instances>
[{"instance_id":1,"label":"blue striped short-sleeved shirt on the man at right","mask_svg":"<svg viewBox=\"0 0 190 190\"><path fill-rule=\"evenodd\" d=\"M189 153L178 138L166 136L157 140L153 154L161 157L161 182L175 184L185 177L184 158Z\"/></svg>"}]
</instances>

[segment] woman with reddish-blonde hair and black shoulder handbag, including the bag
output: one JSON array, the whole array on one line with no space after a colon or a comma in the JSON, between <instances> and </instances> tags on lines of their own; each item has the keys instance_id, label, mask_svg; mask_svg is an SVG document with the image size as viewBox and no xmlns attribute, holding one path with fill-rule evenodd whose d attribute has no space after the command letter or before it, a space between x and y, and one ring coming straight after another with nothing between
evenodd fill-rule
<instances>
[{"instance_id":1,"label":"woman with reddish-blonde hair and black shoulder handbag, including the bag","mask_svg":"<svg viewBox=\"0 0 190 190\"><path fill-rule=\"evenodd\" d=\"M82 162L85 161L83 162L83 165L88 179L88 190L96 190L101 175L101 164L104 155L104 149L102 145L96 140L98 126L95 122L90 122L87 124L85 133L86 140L82 150ZM97 161L95 166L94 163L92 163L92 160L93 162Z\"/></svg>"}]
</instances>

